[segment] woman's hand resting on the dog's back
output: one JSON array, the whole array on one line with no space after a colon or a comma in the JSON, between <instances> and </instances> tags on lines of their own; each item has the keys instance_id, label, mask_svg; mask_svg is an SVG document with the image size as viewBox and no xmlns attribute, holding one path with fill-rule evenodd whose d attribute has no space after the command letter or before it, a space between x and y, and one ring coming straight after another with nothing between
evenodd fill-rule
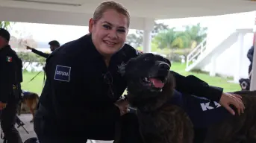
<instances>
[{"instance_id":1,"label":"woman's hand resting on the dog's back","mask_svg":"<svg viewBox=\"0 0 256 143\"><path fill-rule=\"evenodd\" d=\"M228 109L228 112L231 112L232 115L235 115L235 112L231 107L229 107L230 104L234 105L234 107L237 108L237 112L239 115L241 114L241 112L243 113L243 110L245 109L242 101L242 96L231 93L223 93L222 97L220 98L219 104L221 104L222 107L225 107L225 109Z\"/></svg>"}]
</instances>

